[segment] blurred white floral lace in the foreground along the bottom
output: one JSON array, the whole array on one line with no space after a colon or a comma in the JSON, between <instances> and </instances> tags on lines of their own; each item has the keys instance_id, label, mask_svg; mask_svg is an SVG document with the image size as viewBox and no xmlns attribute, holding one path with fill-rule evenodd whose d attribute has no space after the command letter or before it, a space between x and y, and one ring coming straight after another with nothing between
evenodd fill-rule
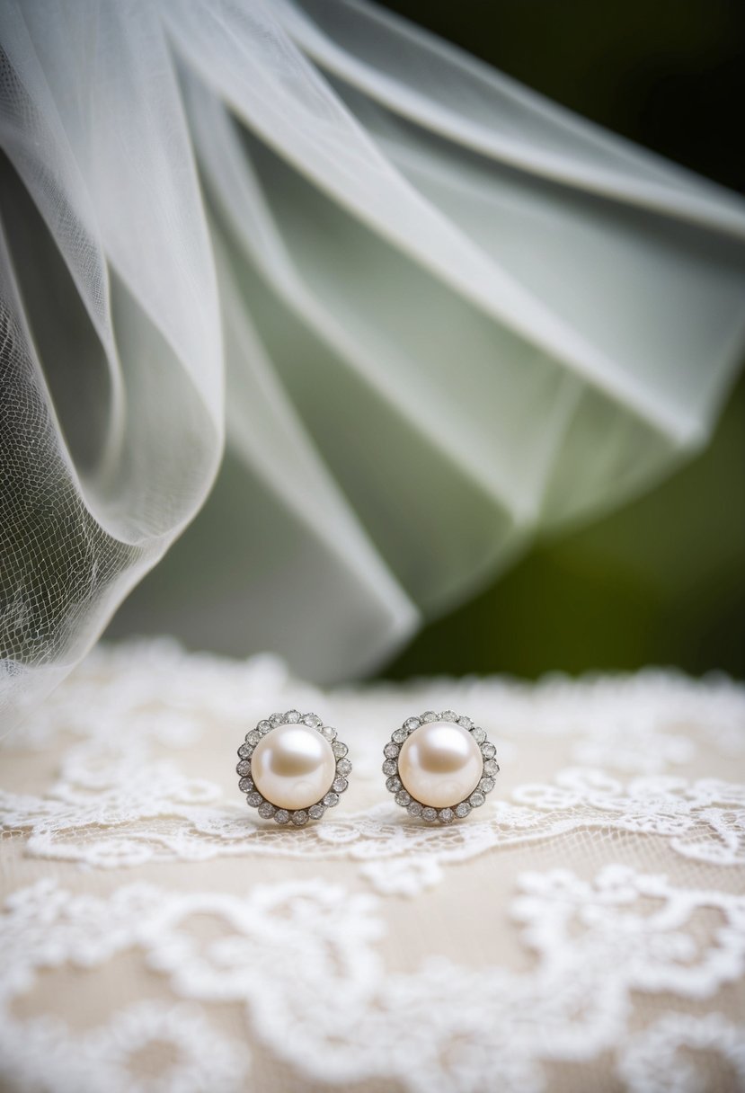
<instances>
[{"instance_id":1,"label":"blurred white floral lace in the foreground along the bottom","mask_svg":"<svg viewBox=\"0 0 745 1093\"><path fill-rule=\"evenodd\" d=\"M648 900L654 909L640 910ZM702 909L720 925L695 939L691 921ZM63 1073L56 1089L98 1093L127 1088L128 1059L166 1041L185 1079L179 1085L172 1074L164 1088L239 1088L248 1056L214 1035L204 1009L138 1003L82 1036L57 1020L14 1016L13 1001L44 969L93 974L137 949L177 998L239 1003L252 1035L316 1081L385 1079L412 1093L475 1093L494 1088L498 1074L500 1089L523 1093L546 1089L547 1062L610 1051L618 1078L649 1093L698 1088L687 1057L677 1057L689 1048L722 1053L743 1076L745 1029L716 1012L670 1013L629 1036L634 992L701 1000L742 976L742 896L675 888L622 866L592 881L568 870L524 873L510 907L535 961L522 973L446 960L392 973L377 951L379 910L377 900L312 881L246 896L131 884L108 898L42 881L16 892L0 917L8 959L0 1051L23 1088L44 1085L55 1058ZM204 943L191 931L199 915L220 920L217 940Z\"/></svg>"}]
</instances>

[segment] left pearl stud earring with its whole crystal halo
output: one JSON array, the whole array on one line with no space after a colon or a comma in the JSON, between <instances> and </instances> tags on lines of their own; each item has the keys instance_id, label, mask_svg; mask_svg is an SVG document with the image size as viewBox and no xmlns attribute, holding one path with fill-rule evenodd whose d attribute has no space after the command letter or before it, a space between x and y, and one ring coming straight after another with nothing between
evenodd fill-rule
<instances>
[{"instance_id":1,"label":"left pearl stud earring with its whole crystal halo","mask_svg":"<svg viewBox=\"0 0 745 1093\"><path fill-rule=\"evenodd\" d=\"M316 714L272 714L238 749L238 788L264 820L301 827L339 804L352 771L347 751Z\"/></svg>"}]
</instances>

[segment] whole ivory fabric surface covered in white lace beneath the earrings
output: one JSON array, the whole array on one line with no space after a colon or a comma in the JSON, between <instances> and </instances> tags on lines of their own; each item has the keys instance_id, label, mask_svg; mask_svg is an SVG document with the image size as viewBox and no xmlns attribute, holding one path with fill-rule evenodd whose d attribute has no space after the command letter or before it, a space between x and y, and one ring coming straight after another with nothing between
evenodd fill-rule
<instances>
[{"instance_id":1,"label":"whole ivory fabric surface covered in white lace beneath the earrings","mask_svg":"<svg viewBox=\"0 0 745 1093\"><path fill-rule=\"evenodd\" d=\"M354 764L300 830L235 773L289 708ZM501 772L431 827L382 749L450 708ZM161 639L96 648L0 757L9 1093L745 1089L741 684L320 690Z\"/></svg>"}]
</instances>

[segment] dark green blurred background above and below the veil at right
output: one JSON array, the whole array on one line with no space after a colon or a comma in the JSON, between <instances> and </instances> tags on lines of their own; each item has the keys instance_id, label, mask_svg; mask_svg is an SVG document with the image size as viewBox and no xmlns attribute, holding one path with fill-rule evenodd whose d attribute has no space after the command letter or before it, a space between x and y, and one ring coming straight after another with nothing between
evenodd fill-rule
<instances>
[{"instance_id":1,"label":"dark green blurred background above and below the veil at right","mask_svg":"<svg viewBox=\"0 0 745 1093\"><path fill-rule=\"evenodd\" d=\"M745 3L388 0L586 117L745 191ZM745 381L709 449L535 549L382 674L676 665L745 675Z\"/></svg>"}]
</instances>

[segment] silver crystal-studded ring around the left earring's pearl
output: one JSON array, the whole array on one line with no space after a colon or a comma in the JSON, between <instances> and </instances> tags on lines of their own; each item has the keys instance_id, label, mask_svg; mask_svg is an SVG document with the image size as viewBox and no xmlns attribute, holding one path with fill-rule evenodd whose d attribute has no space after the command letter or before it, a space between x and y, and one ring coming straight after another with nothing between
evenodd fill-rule
<instances>
[{"instance_id":1,"label":"silver crystal-studded ring around the left earring's pearl","mask_svg":"<svg viewBox=\"0 0 745 1093\"><path fill-rule=\"evenodd\" d=\"M272 732L281 725L305 725L309 729L316 729L323 739L331 745L336 760L336 771L329 788L321 799L307 809L281 809L272 801L259 792L251 778L251 755L259 741ZM336 730L330 725L324 725L317 714L300 714L297 709L288 709L285 714L272 714L271 717L259 721L255 729L246 733L245 742L238 749L238 789L245 794L246 801L252 809L259 810L262 820L273 820L274 823L284 826L304 827L309 820L320 820L327 809L335 808L342 794L348 788L348 775L352 772L352 763L347 759L348 748L342 743L336 736Z\"/></svg>"}]
</instances>

